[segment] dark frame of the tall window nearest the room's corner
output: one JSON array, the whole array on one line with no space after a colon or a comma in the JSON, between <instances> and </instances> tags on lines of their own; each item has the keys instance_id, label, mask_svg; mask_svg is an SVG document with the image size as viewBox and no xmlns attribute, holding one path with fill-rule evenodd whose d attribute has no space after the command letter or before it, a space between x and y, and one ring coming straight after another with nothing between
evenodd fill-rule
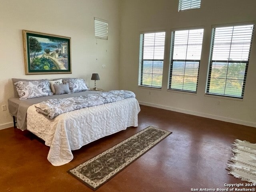
<instances>
[{"instance_id":1,"label":"dark frame of the tall window nearest the room's corner","mask_svg":"<svg viewBox=\"0 0 256 192\"><path fill-rule=\"evenodd\" d=\"M145 34L156 34L156 33L164 33L164 50L163 50L163 59L144 59L143 55L144 55L144 35ZM143 37L142 37L143 36ZM163 68L162 68L162 77L163 77L163 72L164 72L164 57L165 57L165 48L166 48L166 31L164 30L158 30L158 31L147 31L147 32L140 32L140 48L139 48L139 73L138 73L138 86L140 87L144 87L144 88L153 88L153 89L162 89L162 82L161 82L161 86L153 86L151 83L150 85L146 85L143 84L143 68L144 68L144 61L161 61L163 63ZM153 71L152 71L152 75L153 75ZM153 80L153 78L152 78ZM163 78L162 78L163 80Z\"/></svg>"}]
</instances>

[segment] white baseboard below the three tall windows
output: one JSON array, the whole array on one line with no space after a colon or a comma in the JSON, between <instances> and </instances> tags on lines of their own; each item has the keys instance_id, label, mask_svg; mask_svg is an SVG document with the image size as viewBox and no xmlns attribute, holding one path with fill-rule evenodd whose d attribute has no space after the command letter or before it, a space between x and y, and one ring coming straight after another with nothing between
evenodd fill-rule
<instances>
[{"instance_id":1,"label":"white baseboard below the three tall windows","mask_svg":"<svg viewBox=\"0 0 256 192\"><path fill-rule=\"evenodd\" d=\"M232 118L227 118L227 117L222 117L222 116L217 116L217 115L211 115L211 114L206 114L206 113L200 113L200 112L195 112L195 111L190 111L190 110L184 110L184 109L179 109L179 108L174 108L174 107L169 107L169 106L164 106L164 105L158 105L158 104L148 103L148 102L139 101L139 104L156 107L156 108L161 108L161 109L166 109L166 110L171 110L171 111L176 111L176 112L180 112L180 113L186 113L186 114L190 114L190 115L196 115L196 116L210 118L210 119L216 119L216 120L230 122L230 123L236 123L236 124L256 127L256 123L254 123L254 122L247 122L247 121L242 121L242 120L237 120L237 119L232 119Z\"/></svg>"}]
</instances>

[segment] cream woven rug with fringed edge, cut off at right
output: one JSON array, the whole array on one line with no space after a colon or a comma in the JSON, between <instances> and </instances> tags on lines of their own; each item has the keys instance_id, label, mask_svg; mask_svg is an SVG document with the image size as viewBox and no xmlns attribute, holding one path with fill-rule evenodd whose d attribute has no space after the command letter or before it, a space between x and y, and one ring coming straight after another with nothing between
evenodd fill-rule
<instances>
[{"instance_id":1,"label":"cream woven rug with fringed edge, cut off at right","mask_svg":"<svg viewBox=\"0 0 256 192\"><path fill-rule=\"evenodd\" d=\"M227 164L229 174L256 184L256 144L236 139L232 145L234 154Z\"/></svg>"}]
</instances>

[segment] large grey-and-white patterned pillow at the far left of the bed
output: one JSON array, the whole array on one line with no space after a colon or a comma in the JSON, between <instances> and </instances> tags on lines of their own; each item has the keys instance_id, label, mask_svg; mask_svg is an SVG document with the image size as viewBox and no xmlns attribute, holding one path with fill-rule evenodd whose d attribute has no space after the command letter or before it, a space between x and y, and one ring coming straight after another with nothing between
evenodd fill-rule
<instances>
[{"instance_id":1,"label":"large grey-and-white patterned pillow at the far left of the bed","mask_svg":"<svg viewBox=\"0 0 256 192\"><path fill-rule=\"evenodd\" d=\"M52 95L49 80L18 81L14 86L20 100Z\"/></svg>"}]
</instances>

